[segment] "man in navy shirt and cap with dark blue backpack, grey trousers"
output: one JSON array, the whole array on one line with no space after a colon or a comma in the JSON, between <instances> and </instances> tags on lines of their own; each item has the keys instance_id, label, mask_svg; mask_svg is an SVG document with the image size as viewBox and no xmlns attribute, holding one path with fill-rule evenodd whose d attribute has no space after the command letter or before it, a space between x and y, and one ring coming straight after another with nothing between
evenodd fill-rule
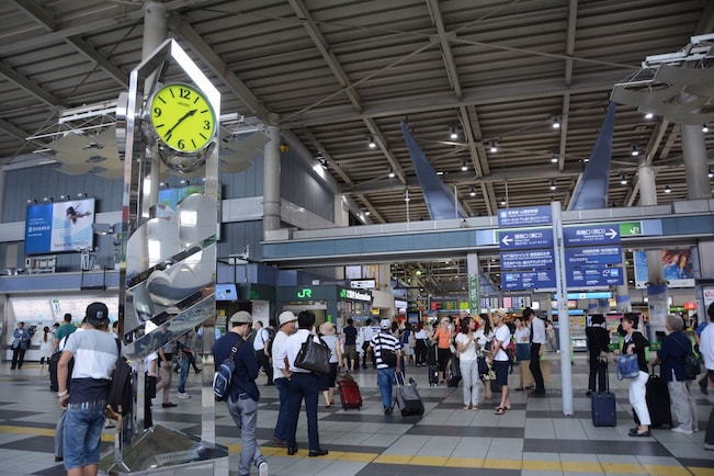
<instances>
[{"instance_id":1,"label":"man in navy shirt and cap with dark blue backpack, grey trousers","mask_svg":"<svg viewBox=\"0 0 714 476\"><path fill-rule=\"evenodd\" d=\"M213 358L216 370L220 363L228 359L231 349L236 351L234 373L230 378L230 393L226 398L228 412L240 430L241 449L238 474L250 474L251 463L258 467L260 476L268 476L268 462L260 452L256 441L256 427L258 423L258 399L260 390L256 385L258 378L258 363L256 353L250 345L242 345L248 340L253 318L250 313L239 310L228 320L228 332L213 345Z\"/></svg>"}]
</instances>

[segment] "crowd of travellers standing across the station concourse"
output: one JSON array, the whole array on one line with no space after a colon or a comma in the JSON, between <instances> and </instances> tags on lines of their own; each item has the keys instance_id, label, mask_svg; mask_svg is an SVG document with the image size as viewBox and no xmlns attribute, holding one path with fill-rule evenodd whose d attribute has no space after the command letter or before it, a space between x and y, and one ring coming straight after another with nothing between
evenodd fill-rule
<instances>
[{"instance_id":1,"label":"crowd of travellers standing across the station concourse","mask_svg":"<svg viewBox=\"0 0 714 476\"><path fill-rule=\"evenodd\" d=\"M709 307L707 315L710 320L714 320L714 304ZM105 394L121 347L118 343L114 344L118 342L116 329L113 333L110 332L107 316L104 304L92 303L88 306L79 329L71 324L71 316L66 316L64 325L55 329L52 340L53 350L61 352L57 396L64 409L63 453L65 467L70 476L92 472L95 474L99 463L101 432L105 420ZM510 410L508 381L509 374L514 370L514 361L519 362L519 386L515 390L530 386L533 388L531 396L545 395L540 361L547 342L546 325L531 308L511 318L501 309L473 317L462 313L458 318L440 319L433 328L423 322L399 326L390 319L382 319L375 322L375 326L371 320L366 320L365 326L358 328L350 318L342 332L338 333L332 322L316 326L315 314L307 310L297 316L290 310L283 311L277 317L276 329L273 329L272 325L263 327L262 322L253 329L254 325L250 313L235 313L228 319L226 335L219 337L212 349L217 364L224 362L228 355L235 355L230 390L225 401L228 413L241 434L240 475L250 474L252 465L258 467L261 476L268 475L268 462L256 437L260 399L257 379L261 371L268 377L265 385L276 387L280 400L273 445L285 447L287 455L298 453L297 423L301 408L304 406L308 441L305 450L309 457L329 453L319 439L317 413L320 396L322 405L329 408L335 404L339 373L364 370L367 363L376 369L385 415L393 411L395 375L405 371L407 365L435 365L439 372L437 385L444 385L450 365L458 365L464 410L483 408L481 385L486 399L492 398L494 387L500 393L500 400L494 407L496 415ZM636 355L639 369L637 376L628 382L628 399L638 421L628 434L634 438L647 438L651 434L653 419L646 398L650 365L661 365L661 377L667 382L678 422L671 431L685 434L698 431L692 379L688 379L683 367L684 356L692 352L691 341L683 333L684 321L680 316L668 316L667 335L649 362L645 353L649 341L638 330L638 325L637 315L624 315L620 329L622 345L614 352ZM22 331L21 326L19 330ZM77 330L82 332L76 332ZM702 393L707 393L707 387L714 386L714 326L703 322L695 332L695 350L701 353L705 365L699 386ZM607 389L610 333L602 316L592 316L586 335L590 361L587 393L590 395ZM168 399L172 354L180 354L181 398L181 395L185 394L185 374L191 362L189 354L193 354L193 350L188 345L185 337L183 340L174 339L169 326L162 327L158 336L161 340L158 351L146 360L147 385L150 386L151 382L156 385L158 381L156 390L163 392L162 406L169 408L175 406ZM19 339L21 338L20 336ZM258 345L254 343L257 339L260 340ZM324 342L329 348L329 372L318 374L297 364L301 348L310 339ZM251 345L242 345L243 343ZM18 363L20 361L19 356ZM70 363L73 364L73 370ZM150 426L150 409L146 409ZM707 450L714 450L714 409L709 418L704 445Z\"/></svg>"}]
</instances>

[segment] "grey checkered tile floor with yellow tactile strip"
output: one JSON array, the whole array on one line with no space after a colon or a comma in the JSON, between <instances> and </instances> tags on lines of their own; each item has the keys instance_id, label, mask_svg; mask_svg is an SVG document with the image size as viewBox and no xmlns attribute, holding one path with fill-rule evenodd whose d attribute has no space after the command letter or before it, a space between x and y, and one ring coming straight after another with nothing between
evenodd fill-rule
<instances>
[{"instance_id":1,"label":"grey checkered tile floor with yellow tactile strip","mask_svg":"<svg viewBox=\"0 0 714 476\"><path fill-rule=\"evenodd\" d=\"M429 387L424 369L408 367L418 382L424 401L422 418L385 416L373 370L354 374L364 406L343 411L337 405L320 407L320 441L329 455L308 458L304 413L297 431L297 455L273 447L272 429L277 413L276 390L261 386L258 438L268 456L271 475L714 475L714 452L703 449L704 432L676 434L656 429L653 438L633 439L633 426L625 385L611 379L617 396L619 424L596 428L590 419L590 399L585 396L587 369L578 354L573 366L575 415L563 416L560 373L552 355L552 376L547 398L529 398L512 392L512 409L494 413L498 394L484 400L478 411L462 409L462 388ZM155 410L155 422L200 434L201 401L197 388L203 374L191 372L188 392L192 399L179 406ZM264 376L259 384L264 383ZM173 385L175 386L175 381ZM511 375L511 384L518 376ZM513 387L514 385L512 385ZM696 388L699 428L704 429L712 408L711 397ZM173 393L175 395L175 393ZM159 400L160 401L160 400ZM321 401L321 400L320 400ZM216 435L230 450L231 475L237 474L240 435L223 404L217 406ZM54 462L53 435L58 417L57 398L48 390L47 371L26 364L22 371L0 365L0 474L64 475ZM111 431L111 430L109 430ZM105 435L110 447L111 434ZM253 474L257 469L253 468Z\"/></svg>"}]
</instances>

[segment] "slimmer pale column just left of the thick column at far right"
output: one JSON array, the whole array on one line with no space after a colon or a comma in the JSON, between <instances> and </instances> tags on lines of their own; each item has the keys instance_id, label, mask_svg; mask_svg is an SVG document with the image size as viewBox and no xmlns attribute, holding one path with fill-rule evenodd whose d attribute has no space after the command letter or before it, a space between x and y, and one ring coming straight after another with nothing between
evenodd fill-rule
<instances>
[{"instance_id":1,"label":"slimmer pale column just left of the thick column at far right","mask_svg":"<svg viewBox=\"0 0 714 476\"><path fill-rule=\"evenodd\" d=\"M637 168L637 178L639 179L639 204L657 205L655 172L650 167L641 163ZM656 331L665 330L669 314L661 250L647 250L647 306L649 307L649 338L654 339ZM642 326L638 326L638 329L644 330Z\"/></svg>"}]
</instances>

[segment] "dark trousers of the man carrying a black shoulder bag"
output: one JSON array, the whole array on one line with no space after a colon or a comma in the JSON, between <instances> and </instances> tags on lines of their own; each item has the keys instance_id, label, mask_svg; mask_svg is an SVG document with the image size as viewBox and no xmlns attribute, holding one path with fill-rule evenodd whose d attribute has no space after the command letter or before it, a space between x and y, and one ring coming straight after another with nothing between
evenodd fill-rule
<instances>
[{"instance_id":1,"label":"dark trousers of the man carrying a black shoulder bag","mask_svg":"<svg viewBox=\"0 0 714 476\"><path fill-rule=\"evenodd\" d=\"M301 405L305 399L305 412L307 413L307 440L309 449L315 451L320 449L320 437L317 430L317 375L313 373L293 372L290 382L290 393L287 397L287 446L297 447L295 433L297 432L297 419L299 417Z\"/></svg>"}]
</instances>

